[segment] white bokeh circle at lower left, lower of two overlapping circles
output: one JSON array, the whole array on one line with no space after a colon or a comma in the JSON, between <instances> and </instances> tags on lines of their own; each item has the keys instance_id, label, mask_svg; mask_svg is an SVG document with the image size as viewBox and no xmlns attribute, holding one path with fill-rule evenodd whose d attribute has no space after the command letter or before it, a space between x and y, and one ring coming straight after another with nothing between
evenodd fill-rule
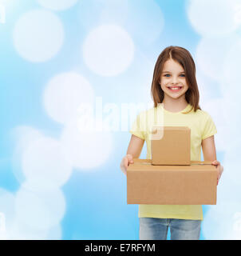
<instances>
[{"instance_id":1,"label":"white bokeh circle at lower left, lower of two overlapping circles","mask_svg":"<svg viewBox=\"0 0 241 256\"><path fill-rule=\"evenodd\" d=\"M47 230L64 217L65 196L57 187L42 189L37 185L40 183L38 180L22 183L16 194L16 218L30 228Z\"/></svg>"}]
</instances>

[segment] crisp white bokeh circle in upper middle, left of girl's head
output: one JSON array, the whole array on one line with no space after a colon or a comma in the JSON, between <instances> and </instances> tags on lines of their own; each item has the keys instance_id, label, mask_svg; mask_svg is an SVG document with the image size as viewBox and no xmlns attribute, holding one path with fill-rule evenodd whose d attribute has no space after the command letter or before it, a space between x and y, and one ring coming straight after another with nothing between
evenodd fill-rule
<instances>
[{"instance_id":1,"label":"crisp white bokeh circle in upper middle, left of girl's head","mask_svg":"<svg viewBox=\"0 0 241 256\"><path fill-rule=\"evenodd\" d=\"M134 43L120 26L102 25L90 31L83 44L86 65L101 76L124 72L132 62Z\"/></svg>"}]
</instances>

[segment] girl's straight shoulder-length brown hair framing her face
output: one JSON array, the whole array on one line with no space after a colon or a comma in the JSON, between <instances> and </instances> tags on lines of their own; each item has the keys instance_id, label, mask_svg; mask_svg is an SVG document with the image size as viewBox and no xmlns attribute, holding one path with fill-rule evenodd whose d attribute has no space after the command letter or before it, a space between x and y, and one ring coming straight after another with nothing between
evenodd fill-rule
<instances>
[{"instance_id":1,"label":"girl's straight shoulder-length brown hair framing her face","mask_svg":"<svg viewBox=\"0 0 241 256\"><path fill-rule=\"evenodd\" d=\"M162 103L164 100L164 91L160 87L160 77L164 67L164 62L169 58L172 58L176 62L179 62L183 66L185 71L185 78L188 84L188 90L185 93L186 101L194 108L194 111L201 110L199 106L200 93L198 85L196 82L196 66L193 61L192 55L188 50L179 46L168 46L159 55L154 68L153 78L152 78L152 100L154 102L154 107L157 103ZM188 114L190 111L185 112Z\"/></svg>"}]
</instances>

